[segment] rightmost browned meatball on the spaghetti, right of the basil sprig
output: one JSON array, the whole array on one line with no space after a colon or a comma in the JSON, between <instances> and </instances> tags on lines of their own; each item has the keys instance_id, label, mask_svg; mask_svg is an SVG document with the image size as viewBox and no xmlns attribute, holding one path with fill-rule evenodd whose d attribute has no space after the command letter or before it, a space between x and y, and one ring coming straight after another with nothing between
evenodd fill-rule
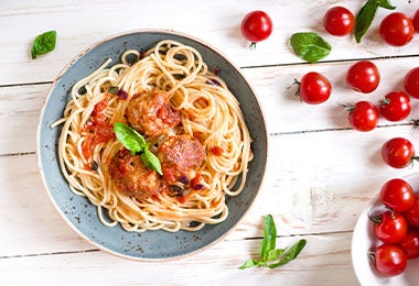
<instances>
[{"instance_id":1,"label":"rightmost browned meatball on the spaghetti, right of the basil sprig","mask_svg":"<svg viewBox=\"0 0 419 286\"><path fill-rule=\"evenodd\" d=\"M205 158L205 150L190 135L166 136L159 145L163 178L169 183L191 180Z\"/></svg>"}]
</instances>

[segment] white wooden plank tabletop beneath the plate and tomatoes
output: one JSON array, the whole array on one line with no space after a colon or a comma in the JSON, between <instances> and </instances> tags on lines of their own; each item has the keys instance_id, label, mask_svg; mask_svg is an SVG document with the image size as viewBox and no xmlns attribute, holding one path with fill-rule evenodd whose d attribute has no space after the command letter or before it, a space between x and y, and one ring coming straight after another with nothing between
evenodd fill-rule
<instances>
[{"instance_id":1,"label":"white wooden plank tabletop beneath the plate and tomatoes","mask_svg":"<svg viewBox=\"0 0 419 286\"><path fill-rule=\"evenodd\" d=\"M393 136L411 139L419 148L418 100L404 122L380 120L372 132L351 129L340 103L378 102L402 88L404 75L419 65L419 34L400 48L377 33L379 10L361 44L333 37L322 15L334 4L354 13L365 1L10 1L0 0L0 284L1 285L357 285L351 240L355 222L383 183L418 170L393 169L379 151ZM391 1L412 15L419 1ZM267 11L271 36L247 48L239 25L251 10ZM143 29L170 29L200 37L239 66L255 88L269 132L268 166L259 195L234 231L194 255L159 263L135 262L108 254L80 239L60 217L40 179L35 132L42 105L55 76L80 51L110 35ZM35 35L57 31L54 52L32 61ZM298 58L289 37L318 32L333 50L313 65ZM372 95L345 86L354 61L374 61L382 82ZM320 72L333 85L331 99L308 106L287 89L294 78ZM238 270L258 254L262 219L271 213L278 246L304 238L298 260L281 268Z\"/></svg>"}]
</instances>

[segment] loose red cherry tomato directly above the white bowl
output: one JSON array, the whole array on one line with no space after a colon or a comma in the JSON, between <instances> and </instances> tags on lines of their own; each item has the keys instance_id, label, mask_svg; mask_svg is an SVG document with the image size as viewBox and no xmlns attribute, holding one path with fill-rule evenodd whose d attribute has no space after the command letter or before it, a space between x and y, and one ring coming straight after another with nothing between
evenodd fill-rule
<instances>
[{"instance_id":1,"label":"loose red cherry tomato directly above the white bowl","mask_svg":"<svg viewBox=\"0 0 419 286\"><path fill-rule=\"evenodd\" d=\"M383 144L382 157L389 166L404 168L415 158L415 146L407 139L394 138Z\"/></svg>"}]
</instances>

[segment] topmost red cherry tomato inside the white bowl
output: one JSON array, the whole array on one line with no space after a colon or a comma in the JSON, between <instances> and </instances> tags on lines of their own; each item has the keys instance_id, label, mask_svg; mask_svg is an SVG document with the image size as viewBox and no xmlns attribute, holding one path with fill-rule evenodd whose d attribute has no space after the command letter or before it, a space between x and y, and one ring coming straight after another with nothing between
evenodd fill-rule
<instances>
[{"instance_id":1,"label":"topmost red cherry tomato inside the white bowl","mask_svg":"<svg viewBox=\"0 0 419 286\"><path fill-rule=\"evenodd\" d=\"M383 185L379 199L386 207L401 212L413 205L415 191L406 180L394 178Z\"/></svg>"}]
</instances>

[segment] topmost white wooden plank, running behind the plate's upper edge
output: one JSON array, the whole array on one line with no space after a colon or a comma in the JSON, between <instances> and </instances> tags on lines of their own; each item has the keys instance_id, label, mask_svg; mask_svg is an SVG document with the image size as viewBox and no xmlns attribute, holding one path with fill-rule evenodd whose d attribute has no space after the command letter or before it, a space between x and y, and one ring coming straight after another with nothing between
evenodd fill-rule
<instances>
[{"instance_id":1,"label":"topmost white wooden plank, running behind the plate's upper edge","mask_svg":"<svg viewBox=\"0 0 419 286\"><path fill-rule=\"evenodd\" d=\"M415 37L405 47L390 47L383 43L377 33L380 20L388 10L380 9L361 44L352 36L335 37L325 33L322 16L335 4L319 4L318 1L240 1L240 6L228 2L206 1L194 6L193 12L185 16L185 7L170 0L162 0L154 8L154 1L67 1L65 4L51 6L49 1L3 2L0 11L0 78L1 85L52 81L62 68L83 50L94 43L127 31L139 29L168 29L197 36L221 50L236 65L261 66L303 63L297 57L289 37L296 32L318 32L332 45L325 61L348 58L376 58L383 56L417 55L419 38ZM356 13L362 2L340 1ZM304 9L301 9L303 7ZM249 50L240 35L239 26L244 15L251 10L265 10L271 15L275 30L271 36L256 50ZM412 1L399 1L397 10L409 15L413 13ZM141 11L147 11L142 13ZM71 22L71 24L68 24ZM33 24L36 23L36 24ZM198 24L197 24L198 23ZM30 48L34 37L45 31L57 31L57 46L49 55L32 61ZM343 52L344 51L344 52Z\"/></svg>"}]
</instances>

